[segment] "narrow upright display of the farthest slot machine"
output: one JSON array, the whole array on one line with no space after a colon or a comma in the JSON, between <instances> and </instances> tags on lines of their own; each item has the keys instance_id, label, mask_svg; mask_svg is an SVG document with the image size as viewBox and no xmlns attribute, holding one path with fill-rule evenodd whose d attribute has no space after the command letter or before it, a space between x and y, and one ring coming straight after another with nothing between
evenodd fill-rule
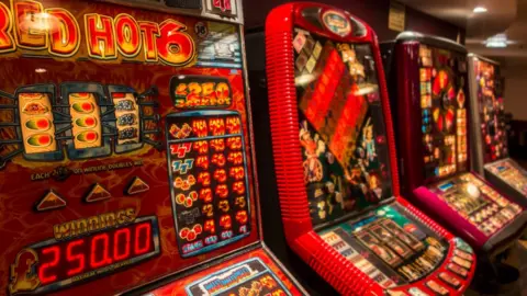
<instances>
[{"instance_id":1,"label":"narrow upright display of the farthest slot machine","mask_svg":"<svg viewBox=\"0 0 527 296\"><path fill-rule=\"evenodd\" d=\"M498 68L487 61L474 60L478 113L481 121L481 135L484 163L507 157L507 133L504 122L503 98L496 93L495 80Z\"/></svg>"}]
</instances>

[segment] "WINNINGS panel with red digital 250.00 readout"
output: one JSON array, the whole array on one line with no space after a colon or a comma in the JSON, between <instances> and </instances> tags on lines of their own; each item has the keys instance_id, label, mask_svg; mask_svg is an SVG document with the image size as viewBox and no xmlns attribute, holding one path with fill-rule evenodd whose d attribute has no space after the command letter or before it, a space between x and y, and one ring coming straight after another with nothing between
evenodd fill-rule
<instances>
[{"instance_id":1,"label":"WINNINGS panel with red digital 250.00 readout","mask_svg":"<svg viewBox=\"0 0 527 296\"><path fill-rule=\"evenodd\" d=\"M49 293L159 253L156 217L136 219L133 208L57 225L54 232L16 254L10 295Z\"/></svg>"}]
</instances>

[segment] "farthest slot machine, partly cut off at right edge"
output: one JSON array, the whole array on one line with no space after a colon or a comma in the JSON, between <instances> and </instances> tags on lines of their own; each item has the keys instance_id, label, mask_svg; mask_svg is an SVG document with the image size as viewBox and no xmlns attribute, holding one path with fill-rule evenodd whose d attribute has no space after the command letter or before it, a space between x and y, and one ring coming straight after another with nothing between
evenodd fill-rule
<instances>
[{"instance_id":1,"label":"farthest slot machine, partly cut off at right edge","mask_svg":"<svg viewBox=\"0 0 527 296\"><path fill-rule=\"evenodd\" d=\"M500 64L469 54L472 168L501 192L527 206L527 171L508 157Z\"/></svg>"}]
</instances>

